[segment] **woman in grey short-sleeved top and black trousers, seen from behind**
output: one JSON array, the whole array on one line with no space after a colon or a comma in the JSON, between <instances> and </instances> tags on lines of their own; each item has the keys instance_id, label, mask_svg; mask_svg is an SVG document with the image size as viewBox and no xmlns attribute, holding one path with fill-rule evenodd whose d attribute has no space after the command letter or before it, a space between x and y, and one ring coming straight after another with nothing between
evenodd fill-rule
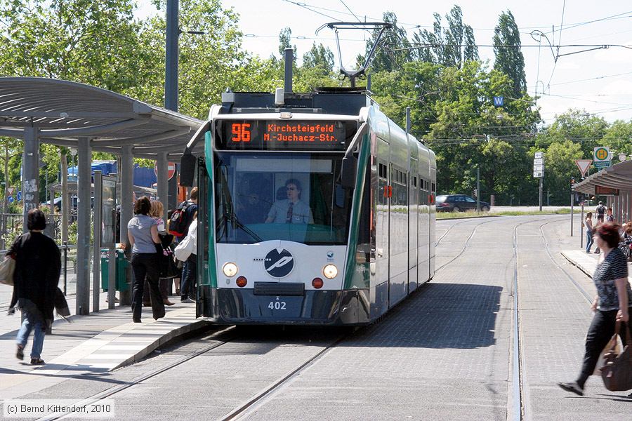
<instances>
[{"instance_id":1,"label":"woman in grey short-sleeved top and black trousers, seen from behind","mask_svg":"<svg viewBox=\"0 0 632 421\"><path fill-rule=\"evenodd\" d=\"M131 265L134 272L132 287L132 319L140 323L143 311L143 283L145 276L150 286L154 319L164 317L164 303L158 287L159 260L156 244L160 243L156 220L148 214L151 202L143 196L134 203L134 218L127 224L127 236L132 246Z\"/></svg>"}]
</instances>

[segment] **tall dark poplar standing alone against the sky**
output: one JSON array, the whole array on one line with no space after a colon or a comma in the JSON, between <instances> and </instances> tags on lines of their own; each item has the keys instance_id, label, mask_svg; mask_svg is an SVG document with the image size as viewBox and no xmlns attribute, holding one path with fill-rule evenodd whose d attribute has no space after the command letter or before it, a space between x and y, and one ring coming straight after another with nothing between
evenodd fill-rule
<instances>
[{"instance_id":1,"label":"tall dark poplar standing alone against the sky","mask_svg":"<svg viewBox=\"0 0 632 421\"><path fill-rule=\"evenodd\" d=\"M520 98L527 91L525 58L520 50L520 32L511 11L503 12L494 28L494 69L513 81L511 97Z\"/></svg>"}]
</instances>

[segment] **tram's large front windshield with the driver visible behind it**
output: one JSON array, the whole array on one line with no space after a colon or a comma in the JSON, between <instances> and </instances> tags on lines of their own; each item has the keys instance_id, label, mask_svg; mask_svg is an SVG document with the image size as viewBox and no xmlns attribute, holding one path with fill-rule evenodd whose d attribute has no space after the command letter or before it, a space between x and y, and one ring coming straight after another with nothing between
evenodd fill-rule
<instances>
[{"instance_id":1,"label":"tram's large front windshield with the driver visible behind it","mask_svg":"<svg viewBox=\"0 0 632 421\"><path fill-rule=\"evenodd\" d=\"M345 244L351 195L342 154L216 152L218 243Z\"/></svg>"}]
</instances>

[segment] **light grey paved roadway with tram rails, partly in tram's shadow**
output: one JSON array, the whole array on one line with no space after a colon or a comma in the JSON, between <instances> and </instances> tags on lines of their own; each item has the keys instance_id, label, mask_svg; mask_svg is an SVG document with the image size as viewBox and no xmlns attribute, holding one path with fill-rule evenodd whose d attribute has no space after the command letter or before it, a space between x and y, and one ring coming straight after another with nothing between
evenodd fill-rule
<instances>
[{"instance_id":1,"label":"light grey paved roadway with tram rails, partly in tram's shadow","mask_svg":"<svg viewBox=\"0 0 632 421\"><path fill-rule=\"evenodd\" d=\"M23 397L92 396L215 343L110 396L116 418L223 419L324 352L240 416L507 420L518 410L525 420L627 419L632 400L607 392L598 377L588 380L583 398L555 386L578 373L591 321L578 286L594 293L588 276L560 256L579 247L569 224L568 215L438 221L435 279L372 326L229 329Z\"/></svg>"}]
</instances>

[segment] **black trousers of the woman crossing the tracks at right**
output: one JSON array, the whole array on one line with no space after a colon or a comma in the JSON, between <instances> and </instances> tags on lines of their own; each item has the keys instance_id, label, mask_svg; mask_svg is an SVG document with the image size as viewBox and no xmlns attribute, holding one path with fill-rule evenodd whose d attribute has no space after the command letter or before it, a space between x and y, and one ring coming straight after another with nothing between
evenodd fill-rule
<instances>
[{"instance_id":1,"label":"black trousers of the woman crossing the tracks at right","mask_svg":"<svg viewBox=\"0 0 632 421\"><path fill-rule=\"evenodd\" d=\"M605 346L612 339L614 335L614 323L617 321L617 311L610 310L602 312L597 310L595 316L593 316L593 322L591 327L588 328L588 334L586 335L586 352L584 353L584 363L581 366L581 373L577 378L577 384L582 389L588 377L590 377L595 371L595 366L599 361L599 356ZM632 307L628 309L628 312L632 312ZM626 343L626 323L621 323L621 341Z\"/></svg>"}]
</instances>

